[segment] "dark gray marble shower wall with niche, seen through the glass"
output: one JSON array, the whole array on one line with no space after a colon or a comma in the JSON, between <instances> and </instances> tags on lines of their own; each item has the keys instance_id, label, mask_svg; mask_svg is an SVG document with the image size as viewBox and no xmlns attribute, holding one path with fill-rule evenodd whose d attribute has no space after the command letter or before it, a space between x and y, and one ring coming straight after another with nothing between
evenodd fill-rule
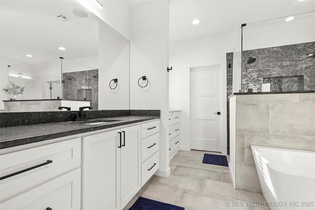
<instances>
[{"instance_id":1,"label":"dark gray marble shower wall with niche, seen through the glass","mask_svg":"<svg viewBox=\"0 0 315 210\"><path fill-rule=\"evenodd\" d=\"M315 90L314 52L315 42L243 51L242 92L261 92L264 80L271 91Z\"/></svg>"}]
</instances>

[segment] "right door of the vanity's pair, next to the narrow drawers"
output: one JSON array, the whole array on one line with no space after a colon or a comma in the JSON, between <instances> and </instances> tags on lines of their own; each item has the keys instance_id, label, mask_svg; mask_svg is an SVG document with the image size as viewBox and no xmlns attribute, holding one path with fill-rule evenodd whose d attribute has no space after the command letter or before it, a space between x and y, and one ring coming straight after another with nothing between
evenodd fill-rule
<instances>
[{"instance_id":1,"label":"right door of the vanity's pair, next to the narrow drawers","mask_svg":"<svg viewBox=\"0 0 315 210\"><path fill-rule=\"evenodd\" d=\"M120 204L123 209L141 188L140 125L121 129L120 152Z\"/></svg>"}]
</instances>

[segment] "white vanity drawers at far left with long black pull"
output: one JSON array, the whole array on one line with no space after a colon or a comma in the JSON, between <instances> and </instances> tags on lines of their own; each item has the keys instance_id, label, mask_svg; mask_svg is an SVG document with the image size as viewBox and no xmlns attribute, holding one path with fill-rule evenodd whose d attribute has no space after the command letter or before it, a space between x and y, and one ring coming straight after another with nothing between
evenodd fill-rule
<instances>
[{"instance_id":1,"label":"white vanity drawers at far left with long black pull","mask_svg":"<svg viewBox=\"0 0 315 210\"><path fill-rule=\"evenodd\" d=\"M81 208L81 138L0 155L1 210Z\"/></svg>"}]
</instances>

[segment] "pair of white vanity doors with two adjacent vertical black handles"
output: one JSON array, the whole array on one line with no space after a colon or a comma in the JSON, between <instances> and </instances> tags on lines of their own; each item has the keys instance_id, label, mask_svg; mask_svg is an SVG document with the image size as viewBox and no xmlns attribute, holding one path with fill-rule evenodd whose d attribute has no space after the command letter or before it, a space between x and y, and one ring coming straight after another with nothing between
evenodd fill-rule
<instances>
[{"instance_id":1,"label":"pair of white vanity doors with two adjacent vertical black handles","mask_svg":"<svg viewBox=\"0 0 315 210\"><path fill-rule=\"evenodd\" d=\"M121 210L140 190L140 125L82 138L83 210Z\"/></svg>"}]
</instances>

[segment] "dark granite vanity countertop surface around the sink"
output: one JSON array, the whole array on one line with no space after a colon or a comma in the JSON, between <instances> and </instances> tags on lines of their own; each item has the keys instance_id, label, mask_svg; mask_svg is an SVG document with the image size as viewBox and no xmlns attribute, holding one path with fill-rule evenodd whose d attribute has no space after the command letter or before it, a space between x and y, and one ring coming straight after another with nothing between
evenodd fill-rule
<instances>
[{"instance_id":1,"label":"dark granite vanity countertop surface around the sink","mask_svg":"<svg viewBox=\"0 0 315 210\"><path fill-rule=\"evenodd\" d=\"M159 119L159 116L122 116L103 118L118 120L104 124L86 125L84 121L63 121L0 128L0 149L40 142L64 136L71 136L105 128L111 128L141 121ZM93 119L99 120L99 119Z\"/></svg>"}]
</instances>

